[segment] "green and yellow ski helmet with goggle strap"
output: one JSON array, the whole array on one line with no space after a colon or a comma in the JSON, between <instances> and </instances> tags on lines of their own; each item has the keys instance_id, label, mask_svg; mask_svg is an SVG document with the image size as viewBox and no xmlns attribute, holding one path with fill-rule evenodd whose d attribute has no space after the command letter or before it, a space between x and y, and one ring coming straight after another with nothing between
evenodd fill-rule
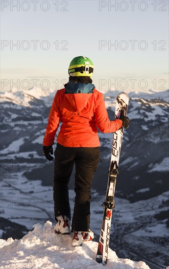
<instances>
[{"instance_id":1,"label":"green and yellow ski helmet with goggle strap","mask_svg":"<svg viewBox=\"0 0 169 269\"><path fill-rule=\"evenodd\" d=\"M84 56L77 56L72 59L68 73L70 76L75 77L91 77L93 75L94 65L92 61Z\"/></svg>"}]
</instances>

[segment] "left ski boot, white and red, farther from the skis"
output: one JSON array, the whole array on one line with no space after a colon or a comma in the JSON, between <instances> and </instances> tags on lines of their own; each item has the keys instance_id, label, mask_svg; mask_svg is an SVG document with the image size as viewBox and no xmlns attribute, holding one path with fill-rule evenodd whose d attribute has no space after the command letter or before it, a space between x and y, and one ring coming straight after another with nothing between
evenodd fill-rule
<instances>
[{"instance_id":1,"label":"left ski boot, white and red, farther from the skis","mask_svg":"<svg viewBox=\"0 0 169 269\"><path fill-rule=\"evenodd\" d=\"M58 234L70 234L70 220L67 216L58 216L56 217L57 224L54 227L54 231Z\"/></svg>"}]
</instances>

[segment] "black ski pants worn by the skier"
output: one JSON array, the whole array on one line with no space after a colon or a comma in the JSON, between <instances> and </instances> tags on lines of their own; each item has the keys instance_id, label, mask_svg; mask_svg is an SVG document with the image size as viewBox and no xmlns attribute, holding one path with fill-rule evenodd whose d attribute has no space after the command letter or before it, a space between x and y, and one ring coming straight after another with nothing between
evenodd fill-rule
<instances>
[{"instance_id":1,"label":"black ski pants worn by the skier","mask_svg":"<svg viewBox=\"0 0 169 269\"><path fill-rule=\"evenodd\" d=\"M55 220L66 215L71 220L69 180L75 163L75 202L73 231L88 231L90 225L90 193L99 160L99 147L64 147L57 143L54 162L53 200Z\"/></svg>"}]
</instances>

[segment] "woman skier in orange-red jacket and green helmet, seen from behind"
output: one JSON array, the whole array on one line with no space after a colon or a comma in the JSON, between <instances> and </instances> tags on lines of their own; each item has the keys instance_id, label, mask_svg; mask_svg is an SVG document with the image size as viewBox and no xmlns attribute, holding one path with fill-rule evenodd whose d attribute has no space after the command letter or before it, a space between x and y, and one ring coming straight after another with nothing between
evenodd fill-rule
<instances>
[{"instance_id":1,"label":"woman skier in orange-red jacket and green helmet, seen from behind","mask_svg":"<svg viewBox=\"0 0 169 269\"><path fill-rule=\"evenodd\" d=\"M129 125L128 117L110 121L103 94L92 84L94 65L84 56L72 59L69 82L57 90L48 117L43 153L53 159L53 141L62 122L54 152L54 214L55 232L70 234L71 209L68 184L75 163L75 202L72 216L72 246L81 246L94 238L90 230L90 193L99 160L97 127L103 133L113 133Z\"/></svg>"}]
</instances>

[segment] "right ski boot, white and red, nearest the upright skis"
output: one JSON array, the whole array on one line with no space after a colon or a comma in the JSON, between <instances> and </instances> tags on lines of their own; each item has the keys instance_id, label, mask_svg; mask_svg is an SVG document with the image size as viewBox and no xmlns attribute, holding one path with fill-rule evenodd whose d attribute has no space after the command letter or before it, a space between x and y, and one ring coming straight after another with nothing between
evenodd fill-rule
<instances>
[{"instance_id":1,"label":"right ski boot, white and red, nearest the upright skis","mask_svg":"<svg viewBox=\"0 0 169 269\"><path fill-rule=\"evenodd\" d=\"M72 247L81 246L85 241L94 239L94 233L89 230L88 232L73 232Z\"/></svg>"}]
</instances>

